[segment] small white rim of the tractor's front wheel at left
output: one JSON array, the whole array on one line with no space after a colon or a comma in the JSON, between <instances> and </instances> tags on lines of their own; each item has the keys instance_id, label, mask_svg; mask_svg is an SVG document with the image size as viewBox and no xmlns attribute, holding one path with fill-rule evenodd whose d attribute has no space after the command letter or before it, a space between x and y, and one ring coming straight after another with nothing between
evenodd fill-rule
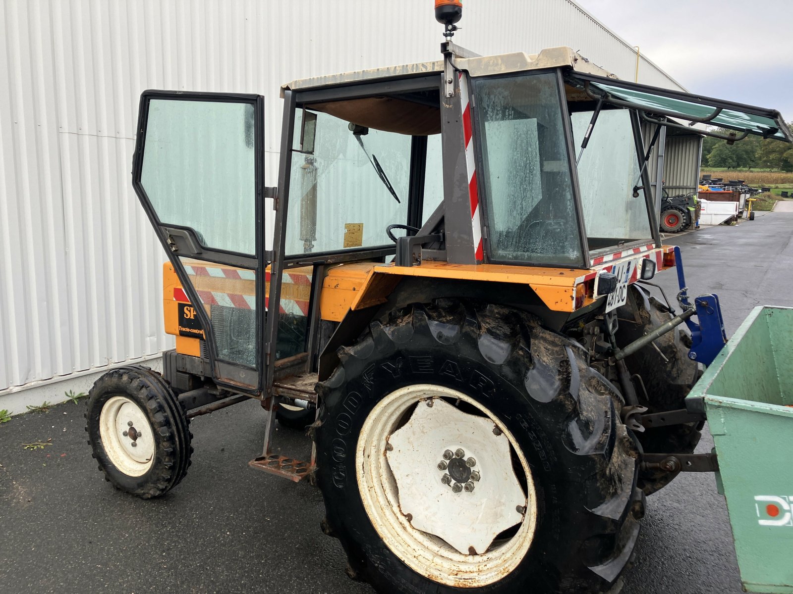
<instances>
[{"instance_id":1,"label":"small white rim of the tractor's front wheel at left","mask_svg":"<svg viewBox=\"0 0 793 594\"><path fill-rule=\"evenodd\" d=\"M99 436L110 462L128 476L140 477L154 463L154 428L140 406L125 396L113 396L102 406Z\"/></svg>"}]
</instances>

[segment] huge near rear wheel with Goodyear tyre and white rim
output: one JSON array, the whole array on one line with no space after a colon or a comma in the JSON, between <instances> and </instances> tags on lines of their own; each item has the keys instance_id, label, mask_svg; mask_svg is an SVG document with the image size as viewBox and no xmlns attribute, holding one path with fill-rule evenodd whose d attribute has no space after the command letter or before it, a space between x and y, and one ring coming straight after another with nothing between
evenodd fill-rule
<instances>
[{"instance_id":1,"label":"huge near rear wheel with Goodyear tyre and white rim","mask_svg":"<svg viewBox=\"0 0 793 594\"><path fill-rule=\"evenodd\" d=\"M605 592L626 566L644 503L622 399L528 314L410 307L318 390L324 530L377 592Z\"/></svg>"}]
</instances>

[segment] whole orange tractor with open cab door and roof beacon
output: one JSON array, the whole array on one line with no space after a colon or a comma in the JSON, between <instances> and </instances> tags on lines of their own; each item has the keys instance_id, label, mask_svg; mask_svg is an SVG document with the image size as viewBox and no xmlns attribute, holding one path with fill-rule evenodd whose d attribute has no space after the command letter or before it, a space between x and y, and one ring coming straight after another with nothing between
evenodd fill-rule
<instances>
[{"instance_id":1,"label":"whole orange tractor with open cab door and roof beacon","mask_svg":"<svg viewBox=\"0 0 793 594\"><path fill-rule=\"evenodd\" d=\"M377 591L605 592L646 494L716 467L685 397L724 344L718 299L690 303L661 244L642 120L790 133L569 48L475 55L451 41L459 2L436 6L442 60L283 86L277 188L263 97L142 94L132 184L176 348L163 375L98 380L90 443L157 497L189 417L256 398L251 466L318 485ZM665 303L649 281L675 265ZM275 453L277 419L308 426L310 459Z\"/></svg>"}]
</instances>

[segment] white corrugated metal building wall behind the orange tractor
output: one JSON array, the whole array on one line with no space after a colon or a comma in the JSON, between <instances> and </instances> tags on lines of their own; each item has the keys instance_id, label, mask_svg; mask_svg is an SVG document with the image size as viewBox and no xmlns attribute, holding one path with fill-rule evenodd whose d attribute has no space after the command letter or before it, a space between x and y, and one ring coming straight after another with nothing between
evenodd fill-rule
<instances>
[{"instance_id":1,"label":"white corrugated metal building wall behind the orange tractor","mask_svg":"<svg viewBox=\"0 0 793 594\"><path fill-rule=\"evenodd\" d=\"M140 91L265 94L272 185L282 82L439 58L431 2L393 6L0 0L0 396L172 344L165 257L129 183ZM569 45L634 77L630 45L570 0L469 0L462 25L482 54ZM639 80L679 87L643 57Z\"/></svg>"}]
</instances>

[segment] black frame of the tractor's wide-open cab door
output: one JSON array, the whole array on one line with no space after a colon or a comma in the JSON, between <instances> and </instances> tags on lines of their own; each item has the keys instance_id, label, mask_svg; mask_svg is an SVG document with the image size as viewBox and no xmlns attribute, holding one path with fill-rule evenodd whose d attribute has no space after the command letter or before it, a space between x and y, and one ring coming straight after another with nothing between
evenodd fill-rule
<instances>
[{"instance_id":1,"label":"black frame of the tractor's wide-open cab door","mask_svg":"<svg viewBox=\"0 0 793 594\"><path fill-rule=\"evenodd\" d=\"M254 107L254 161L255 161L255 254L232 252L224 249L211 249L201 245L201 242L190 227L160 221L154 207L147 196L141 183L141 172L144 166L144 150L146 143L147 119L149 105L152 99L166 101L211 101L228 103L247 103ZM204 307L195 307L197 318L205 333L206 353L209 359L209 369L213 381L218 386L228 387L234 392L251 394L261 398L265 386L265 372L268 357L266 348L263 348L262 339L266 334L266 324L270 316L266 315L265 308L265 268L272 260L272 252L265 250L265 224L264 224L264 97L247 93L201 93L190 91L165 91L148 89L140 95L138 110L138 125L135 152L132 157L132 188L134 188L140 204L154 227L155 234L167 253L170 263L178 276L190 303L202 303L201 298L190 278L187 275L180 257L197 257L199 260L216 264L225 264L240 268L255 270L255 305L256 305L256 348L257 368L234 364L229 361L219 360L217 356L216 337L209 314Z\"/></svg>"}]
</instances>

